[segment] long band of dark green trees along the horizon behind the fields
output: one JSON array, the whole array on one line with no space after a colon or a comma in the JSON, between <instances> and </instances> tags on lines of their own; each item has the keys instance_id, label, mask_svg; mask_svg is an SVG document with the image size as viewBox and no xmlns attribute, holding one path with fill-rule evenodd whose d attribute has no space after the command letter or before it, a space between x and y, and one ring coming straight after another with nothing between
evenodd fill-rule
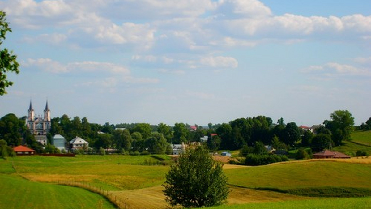
<instances>
[{"instance_id":1,"label":"long band of dark green trees along the horizon behind the fields","mask_svg":"<svg viewBox=\"0 0 371 209\"><path fill-rule=\"evenodd\" d=\"M210 150L253 150L256 142L272 145L278 150L289 148L311 147L313 151L339 146L343 140L350 140L350 133L354 129L370 128L371 118L354 127L354 118L347 110L337 110L331 113L331 120L325 120L314 131L299 128L295 122L285 123L280 118L273 123L272 118L266 116L237 118L229 123L211 124L207 127L197 124L191 125L175 123L173 126L160 123L121 123L103 125L89 123L86 117L52 118L51 129L47 134L49 142L53 135L60 134L67 141L79 136L89 142L89 147L96 151L99 148L115 149L118 152L148 152L171 153L170 144L189 143L200 141L207 136L207 146ZM42 146L36 143L33 135L25 125L26 117L17 118L14 114L7 114L0 120L0 139L8 145L17 146L27 144L36 151L43 151ZM246 147L250 147L247 149ZM250 151L253 153L253 151Z\"/></svg>"}]
</instances>

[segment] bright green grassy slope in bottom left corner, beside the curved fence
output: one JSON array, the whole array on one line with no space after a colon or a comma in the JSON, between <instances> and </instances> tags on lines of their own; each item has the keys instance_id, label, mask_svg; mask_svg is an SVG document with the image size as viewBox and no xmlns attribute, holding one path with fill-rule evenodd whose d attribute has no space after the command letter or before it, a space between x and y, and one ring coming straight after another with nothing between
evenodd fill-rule
<instances>
[{"instance_id":1,"label":"bright green grassy slope in bottom left corner, beside the curved fence","mask_svg":"<svg viewBox=\"0 0 371 209\"><path fill-rule=\"evenodd\" d=\"M77 187L0 175L0 208L115 208L102 196Z\"/></svg>"}]
</instances>

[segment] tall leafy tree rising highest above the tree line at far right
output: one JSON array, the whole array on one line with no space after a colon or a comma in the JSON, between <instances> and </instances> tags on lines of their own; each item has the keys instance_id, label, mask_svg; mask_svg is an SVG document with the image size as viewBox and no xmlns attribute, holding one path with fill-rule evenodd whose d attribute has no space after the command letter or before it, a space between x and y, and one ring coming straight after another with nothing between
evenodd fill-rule
<instances>
[{"instance_id":1,"label":"tall leafy tree rising highest above the tree line at far right","mask_svg":"<svg viewBox=\"0 0 371 209\"><path fill-rule=\"evenodd\" d=\"M324 125L331 131L335 145L341 145L342 140L350 140L350 134L354 129L352 114L348 110L336 110L330 117L331 120L325 120Z\"/></svg>"}]
</instances>

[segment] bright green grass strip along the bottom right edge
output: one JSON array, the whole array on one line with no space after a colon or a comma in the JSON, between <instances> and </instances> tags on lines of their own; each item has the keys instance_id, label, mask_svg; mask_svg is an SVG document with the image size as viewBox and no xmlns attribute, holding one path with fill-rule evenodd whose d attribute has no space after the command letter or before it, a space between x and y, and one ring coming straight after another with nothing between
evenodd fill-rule
<instances>
[{"instance_id":1,"label":"bright green grass strip along the bottom right edge","mask_svg":"<svg viewBox=\"0 0 371 209\"><path fill-rule=\"evenodd\" d=\"M222 205L207 209L328 209L328 208L351 208L367 209L371 208L371 197L362 198L322 198L310 200L293 200L285 202L249 203L242 205Z\"/></svg>"}]
</instances>

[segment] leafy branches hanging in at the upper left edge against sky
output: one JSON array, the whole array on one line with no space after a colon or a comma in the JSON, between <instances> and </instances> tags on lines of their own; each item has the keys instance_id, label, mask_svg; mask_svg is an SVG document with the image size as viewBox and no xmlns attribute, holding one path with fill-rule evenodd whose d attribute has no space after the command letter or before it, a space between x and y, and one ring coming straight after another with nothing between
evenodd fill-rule
<instances>
[{"instance_id":1,"label":"leafy branches hanging in at the upper left edge against sky","mask_svg":"<svg viewBox=\"0 0 371 209\"><path fill-rule=\"evenodd\" d=\"M9 27L9 23L6 22L6 13L0 10L0 46L5 40L5 35L7 32L12 32ZM13 85L12 81L8 81L6 78L7 72L15 72L19 74L19 63L17 62L17 55L13 54L13 51L8 51L8 49L0 48L0 95L4 95L7 92L5 88Z\"/></svg>"}]
</instances>

